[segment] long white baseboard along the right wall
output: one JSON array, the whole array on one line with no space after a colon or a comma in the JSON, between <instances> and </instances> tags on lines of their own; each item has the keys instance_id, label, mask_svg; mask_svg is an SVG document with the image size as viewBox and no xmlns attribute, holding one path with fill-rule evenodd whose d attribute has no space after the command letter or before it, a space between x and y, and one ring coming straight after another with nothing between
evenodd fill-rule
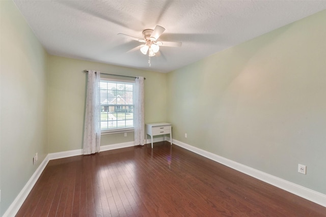
<instances>
[{"instance_id":1,"label":"long white baseboard along the right wall","mask_svg":"<svg viewBox=\"0 0 326 217\"><path fill-rule=\"evenodd\" d=\"M275 187L278 187L280 189L283 189L287 192L290 192L292 194L295 194L297 196L300 196L302 198L305 198L307 200L310 200L314 203L317 203L321 206L326 207L326 195L321 194L319 192L313 191L311 189L302 187L301 185L292 183L290 181L281 179L279 177L264 173L262 171L253 169L251 167L248 167L243 164L239 164L235 161L231 161L229 159L223 158L221 156L218 156L217 154L205 151L203 149L188 145L186 143L180 142L178 140L173 139L173 144L176 144L180 147L183 147L189 151L195 152L200 154L201 156L208 158L210 160L213 160L215 162L221 163L227 167L230 167L232 169L235 169L239 172L245 173L247 175L250 175L254 178L257 178L259 180L262 180L264 182L267 182L271 185L274 185Z\"/></svg>"}]
</instances>

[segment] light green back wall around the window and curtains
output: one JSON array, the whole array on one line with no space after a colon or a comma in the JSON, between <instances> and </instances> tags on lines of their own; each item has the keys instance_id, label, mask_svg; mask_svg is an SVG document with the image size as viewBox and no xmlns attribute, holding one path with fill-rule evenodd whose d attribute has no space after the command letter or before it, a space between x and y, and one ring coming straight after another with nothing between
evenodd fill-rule
<instances>
[{"instance_id":1,"label":"light green back wall around the window and curtains","mask_svg":"<svg viewBox=\"0 0 326 217\"><path fill-rule=\"evenodd\" d=\"M49 56L49 153L83 148L86 96L85 69L144 76L145 122L166 121L167 75L91 61ZM104 77L105 75L101 75ZM122 77L116 77L121 79ZM101 145L133 141L133 132L103 135Z\"/></svg>"}]
</instances>

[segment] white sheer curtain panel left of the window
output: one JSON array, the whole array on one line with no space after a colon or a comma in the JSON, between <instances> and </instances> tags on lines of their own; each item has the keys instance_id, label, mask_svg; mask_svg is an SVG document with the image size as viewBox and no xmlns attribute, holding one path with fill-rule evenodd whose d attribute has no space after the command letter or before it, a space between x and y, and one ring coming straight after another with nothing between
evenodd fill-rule
<instances>
[{"instance_id":1,"label":"white sheer curtain panel left of the window","mask_svg":"<svg viewBox=\"0 0 326 217\"><path fill-rule=\"evenodd\" d=\"M100 151L101 110L100 72L88 70L83 153Z\"/></svg>"}]
</instances>

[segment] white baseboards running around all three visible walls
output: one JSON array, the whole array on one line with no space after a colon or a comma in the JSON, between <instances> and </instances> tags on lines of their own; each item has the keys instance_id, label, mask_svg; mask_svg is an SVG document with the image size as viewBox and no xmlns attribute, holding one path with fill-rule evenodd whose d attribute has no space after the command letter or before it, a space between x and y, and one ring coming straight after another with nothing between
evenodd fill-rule
<instances>
[{"instance_id":1,"label":"white baseboards running around all three visible walls","mask_svg":"<svg viewBox=\"0 0 326 217\"><path fill-rule=\"evenodd\" d=\"M165 141L165 140L170 141L170 138L169 137L158 137L158 138L154 138L153 142L160 142L160 141ZM180 147L183 147L185 149L188 149L190 151L198 153L205 158L219 162L219 163L221 163L225 166L228 166L232 169L235 169L235 170L238 170L247 175L253 176L253 177L260 179L264 182L272 184L280 189L283 189L292 194L303 197L307 200L310 200L314 203L317 203L321 206L326 207L326 195L324 195L324 194L313 191L311 189L307 189L305 187L302 187L301 185L286 181L286 180L278 178L276 176L269 175L267 173L261 172L259 170L253 169L251 167L239 164L237 162L234 162L229 159L218 156L217 154L214 154L214 153L202 150L200 148L188 145L188 144L180 142L178 140L173 139L172 141L173 141L173 144L176 144ZM151 143L151 140L146 139L146 143ZM130 146L134 146L133 142L125 142L125 143L112 144L112 145L103 145L100 147L100 151L113 150L113 149L117 149L117 148L124 148L124 147L130 147ZM47 165L47 163L49 162L49 160L67 158L67 157L78 156L78 155L82 155L82 154L83 154L83 149L62 151L62 152L57 152L57 153L49 153L45 157L43 162L40 164L40 166L37 168L37 170L34 172L34 174L29 179L29 181L25 184L24 188L20 191L20 193L15 198L15 200L12 202L12 204L9 206L7 211L4 213L3 217L15 216L17 214L20 206L22 205L22 203L25 201L25 199L31 192L32 188L34 187L34 184L36 183L37 179L40 177L41 173L43 172L43 170L44 170L45 166Z\"/></svg>"}]
</instances>

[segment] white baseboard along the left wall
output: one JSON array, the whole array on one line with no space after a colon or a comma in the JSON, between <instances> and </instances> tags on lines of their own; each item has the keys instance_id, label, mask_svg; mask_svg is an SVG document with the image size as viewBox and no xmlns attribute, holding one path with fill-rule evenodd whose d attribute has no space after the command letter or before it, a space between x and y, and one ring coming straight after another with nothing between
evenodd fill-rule
<instances>
[{"instance_id":1,"label":"white baseboard along the left wall","mask_svg":"<svg viewBox=\"0 0 326 217\"><path fill-rule=\"evenodd\" d=\"M15 216L20 208L20 206L23 204L27 196L32 191L34 184L36 183L37 179L40 177L41 173L43 172L45 166L49 162L48 156L45 157L45 159L42 161L40 166L36 169L36 171L33 173L29 181L25 184L24 188L19 192L15 200L10 204L6 212L4 213L3 217L11 217Z\"/></svg>"}]
</instances>

